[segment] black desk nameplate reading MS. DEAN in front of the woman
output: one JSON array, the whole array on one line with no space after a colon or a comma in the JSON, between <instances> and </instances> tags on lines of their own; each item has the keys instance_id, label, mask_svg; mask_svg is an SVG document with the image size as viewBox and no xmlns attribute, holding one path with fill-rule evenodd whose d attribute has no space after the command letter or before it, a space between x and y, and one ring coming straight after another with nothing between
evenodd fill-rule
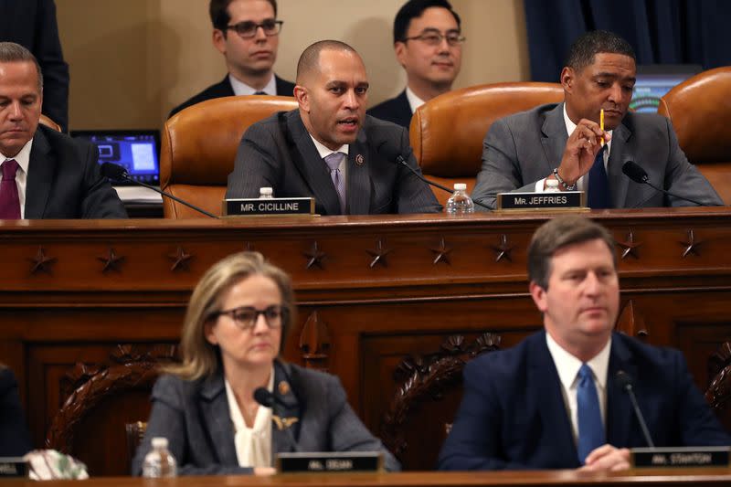
<instances>
[{"instance_id":1,"label":"black desk nameplate reading MS. DEAN in front of the woman","mask_svg":"<svg viewBox=\"0 0 731 487\"><path fill-rule=\"evenodd\" d=\"M313 451L278 453L277 471L383 471L383 453L380 451Z\"/></svg>"}]
</instances>

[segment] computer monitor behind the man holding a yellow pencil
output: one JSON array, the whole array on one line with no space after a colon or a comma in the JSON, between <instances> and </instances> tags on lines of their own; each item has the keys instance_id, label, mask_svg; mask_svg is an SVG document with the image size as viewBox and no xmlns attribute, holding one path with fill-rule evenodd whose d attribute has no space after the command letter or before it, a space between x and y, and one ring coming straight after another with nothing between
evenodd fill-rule
<instances>
[{"instance_id":1,"label":"computer monitor behind the man holding a yellow pencil","mask_svg":"<svg viewBox=\"0 0 731 487\"><path fill-rule=\"evenodd\" d=\"M685 79L703 69L694 64L651 64L637 67L630 109L655 113L660 99Z\"/></svg>"}]
</instances>

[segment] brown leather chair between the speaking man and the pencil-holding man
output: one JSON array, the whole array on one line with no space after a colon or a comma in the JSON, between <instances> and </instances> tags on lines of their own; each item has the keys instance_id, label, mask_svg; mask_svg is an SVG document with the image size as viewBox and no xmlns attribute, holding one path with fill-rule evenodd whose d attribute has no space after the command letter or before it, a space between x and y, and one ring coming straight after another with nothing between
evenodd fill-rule
<instances>
[{"instance_id":1,"label":"brown leather chair between the speaking man and the pencil-holding man","mask_svg":"<svg viewBox=\"0 0 731 487\"><path fill-rule=\"evenodd\" d=\"M564 101L557 83L495 83L453 90L426 102L411 119L409 138L421 171L452 187L467 183L471 193L482 167L482 140L498 119L544 103ZM444 205L449 194L432 188Z\"/></svg>"}]
</instances>

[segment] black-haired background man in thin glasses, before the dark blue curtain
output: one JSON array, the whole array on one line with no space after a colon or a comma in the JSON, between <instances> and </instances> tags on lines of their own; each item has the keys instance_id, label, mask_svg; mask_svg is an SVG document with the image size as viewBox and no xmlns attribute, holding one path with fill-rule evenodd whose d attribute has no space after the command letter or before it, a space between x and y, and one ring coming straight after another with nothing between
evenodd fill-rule
<instances>
[{"instance_id":1,"label":"black-haired background man in thin glasses, before the dark blue curtain","mask_svg":"<svg viewBox=\"0 0 731 487\"><path fill-rule=\"evenodd\" d=\"M409 0L394 20L394 50L406 69L406 90L368 114L408 130L418 107L451 90L460 74L463 42L460 16L447 0Z\"/></svg>"}]
</instances>

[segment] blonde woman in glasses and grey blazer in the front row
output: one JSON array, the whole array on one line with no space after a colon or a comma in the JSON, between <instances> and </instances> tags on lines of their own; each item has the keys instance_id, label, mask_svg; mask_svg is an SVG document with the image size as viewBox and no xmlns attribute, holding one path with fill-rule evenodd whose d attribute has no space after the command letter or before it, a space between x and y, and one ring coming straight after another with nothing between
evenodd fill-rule
<instances>
[{"instance_id":1,"label":"blonde woman in glasses and grey blazer in the front row","mask_svg":"<svg viewBox=\"0 0 731 487\"><path fill-rule=\"evenodd\" d=\"M295 311L289 276L258 252L207 270L185 313L182 364L166 367L154 385L134 475L154 437L168 439L180 475L270 474L293 441L301 451L381 450L387 470L399 470L337 377L281 359ZM273 394L273 408L254 398L261 387Z\"/></svg>"}]
</instances>

